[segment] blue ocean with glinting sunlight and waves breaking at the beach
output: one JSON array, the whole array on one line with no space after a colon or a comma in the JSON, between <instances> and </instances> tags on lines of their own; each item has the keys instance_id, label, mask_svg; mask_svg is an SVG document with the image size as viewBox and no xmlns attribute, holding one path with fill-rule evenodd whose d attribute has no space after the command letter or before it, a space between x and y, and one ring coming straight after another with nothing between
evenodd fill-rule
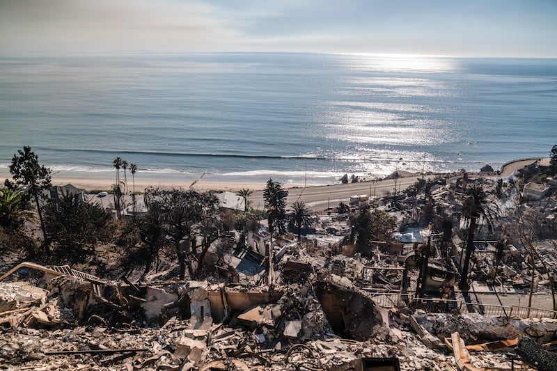
<instances>
[{"instance_id":1,"label":"blue ocean with glinting sunlight and waves breaking at the beach","mask_svg":"<svg viewBox=\"0 0 557 371\"><path fill-rule=\"evenodd\" d=\"M557 144L557 59L367 54L0 57L0 171L331 184L497 169Z\"/></svg>"}]
</instances>

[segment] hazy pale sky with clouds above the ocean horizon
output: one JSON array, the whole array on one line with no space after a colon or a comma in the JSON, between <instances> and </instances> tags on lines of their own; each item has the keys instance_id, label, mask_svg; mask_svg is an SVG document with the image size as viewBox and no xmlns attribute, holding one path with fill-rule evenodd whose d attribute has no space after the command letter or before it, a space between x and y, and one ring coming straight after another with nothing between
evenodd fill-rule
<instances>
[{"instance_id":1,"label":"hazy pale sky with clouds above the ocean horizon","mask_svg":"<svg viewBox=\"0 0 557 371\"><path fill-rule=\"evenodd\" d=\"M557 0L0 0L0 56L557 57Z\"/></svg>"}]
</instances>

